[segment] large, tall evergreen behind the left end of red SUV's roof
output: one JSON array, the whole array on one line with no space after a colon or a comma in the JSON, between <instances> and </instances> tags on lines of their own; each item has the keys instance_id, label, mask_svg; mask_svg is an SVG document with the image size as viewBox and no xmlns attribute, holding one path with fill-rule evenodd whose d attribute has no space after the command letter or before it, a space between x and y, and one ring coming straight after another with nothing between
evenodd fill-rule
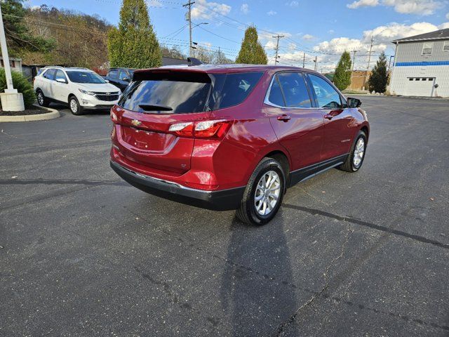
<instances>
[{"instance_id":1,"label":"large, tall evergreen behind the left end of red SUV's roof","mask_svg":"<svg viewBox=\"0 0 449 337\"><path fill-rule=\"evenodd\" d=\"M107 37L111 67L148 68L162 64L161 48L145 0L123 0L119 27Z\"/></svg>"}]
</instances>

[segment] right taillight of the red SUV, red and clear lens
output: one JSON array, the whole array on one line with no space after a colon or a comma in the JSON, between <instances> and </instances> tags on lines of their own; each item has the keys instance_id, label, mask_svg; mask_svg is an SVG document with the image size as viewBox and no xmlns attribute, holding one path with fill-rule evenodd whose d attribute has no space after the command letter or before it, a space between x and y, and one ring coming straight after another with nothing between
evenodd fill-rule
<instances>
[{"instance_id":1,"label":"right taillight of the red SUV, red and clear lens","mask_svg":"<svg viewBox=\"0 0 449 337\"><path fill-rule=\"evenodd\" d=\"M222 138L226 135L232 121L196 121L176 123L170 125L168 131L178 136L196 137L196 138Z\"/></svg>"}]
</instances>

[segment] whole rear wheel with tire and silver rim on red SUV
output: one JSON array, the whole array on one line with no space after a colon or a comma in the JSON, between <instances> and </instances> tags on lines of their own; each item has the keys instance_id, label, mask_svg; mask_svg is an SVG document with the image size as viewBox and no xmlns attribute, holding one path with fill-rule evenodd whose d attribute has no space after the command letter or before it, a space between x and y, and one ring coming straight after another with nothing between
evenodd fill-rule
<instances>
[{"instance_id":1,"label":"whole rear wheel with tire and silver rim on red SUV","mask_svg":"<svg viewBox=\"0 0 449 337\"><path fill-rule=\"evenodd\" d=\"M286 175L279 161L262 159L246 185L237 218L252 225L268 223L281 207L285 184Z\"/></svg>"}]
</instances>

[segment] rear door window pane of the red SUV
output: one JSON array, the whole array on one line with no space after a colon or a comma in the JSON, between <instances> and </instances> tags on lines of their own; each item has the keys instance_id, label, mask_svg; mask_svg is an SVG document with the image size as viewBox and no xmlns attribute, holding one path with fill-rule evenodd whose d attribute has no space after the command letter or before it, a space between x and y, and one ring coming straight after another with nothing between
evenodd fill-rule
<instances>
[{"instance_id":1,"label":"rear door window pane of the red SUV","mask_svg":"<svg viewBox=\"0 0 449 337\"><path fill-rule=\"evenodd\" d=\"M286 107L311 107L309 92L302 74L284 72L277 76L286 100Z\"/></svg>"}]
</instances>

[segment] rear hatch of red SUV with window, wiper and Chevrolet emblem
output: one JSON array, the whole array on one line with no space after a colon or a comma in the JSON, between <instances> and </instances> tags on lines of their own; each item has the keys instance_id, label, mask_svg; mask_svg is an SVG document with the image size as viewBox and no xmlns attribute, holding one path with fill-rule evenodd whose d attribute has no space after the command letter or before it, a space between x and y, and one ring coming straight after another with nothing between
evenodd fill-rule
<instances>
[{"instance_id":1,"label":"rear hatch of red SUV with window, wiper and Chevrolet emblem","mask_svg":"<svg viewBox=\"0 0 449 337\"><path fill-rule=\"evenodd\" d=\"M205 72L136 71L112 110L114 143L123 157L168 174L188 171L194 138L180 136L176 128L208 118L213 88Z\"/></svg>"}]
</instances>

